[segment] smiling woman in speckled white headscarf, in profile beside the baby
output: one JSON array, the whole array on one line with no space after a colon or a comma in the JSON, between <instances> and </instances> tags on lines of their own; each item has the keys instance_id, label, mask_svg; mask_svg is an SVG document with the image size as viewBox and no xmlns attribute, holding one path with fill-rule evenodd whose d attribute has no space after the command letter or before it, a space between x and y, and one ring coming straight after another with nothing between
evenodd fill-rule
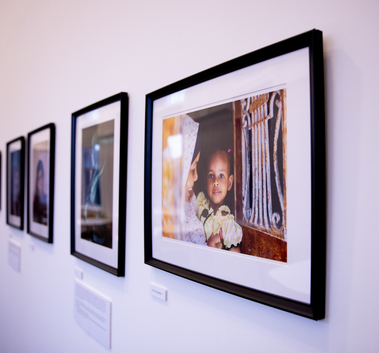
<instances>
[{"instance_id":1,"label":"smiling woman in speckled white headscarf, in profile beside the baby","mask_svg":"<svg viewBox=\"0 0 379 353\"><path fill-rule=\"evenodd\" d=\"M184 186L184 239L190 243L207 245L204 225L196 216L197 202L193 192L194 182L197 180L197 162L200 158L200 141L197 139L199 123L188 115L183 115L183 159L182 185Z\"/></svg>"}]
</instances>

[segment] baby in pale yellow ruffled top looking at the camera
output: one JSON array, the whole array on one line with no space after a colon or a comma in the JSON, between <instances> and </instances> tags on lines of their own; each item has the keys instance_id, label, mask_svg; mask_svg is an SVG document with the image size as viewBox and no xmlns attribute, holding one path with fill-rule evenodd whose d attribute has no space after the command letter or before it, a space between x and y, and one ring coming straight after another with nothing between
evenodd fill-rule
<instances>
[{"instance_id":1,"label":"baby in pale yellow ruffled top looking at the camera","mask_svg":"<svg viewBox=\"0 0 379 353\"><path fill-rule=\"evenodd\" d=\"M197 195L197 218L204 225L209 246L241 252L242 228L234 221L228 206L224 205L226 193L233 184L230 161L225 151L215 150L207 163L206 186L209 200L204 192ZM215 241L215 236L219 240Z\"/></svg>"}]
</instances>

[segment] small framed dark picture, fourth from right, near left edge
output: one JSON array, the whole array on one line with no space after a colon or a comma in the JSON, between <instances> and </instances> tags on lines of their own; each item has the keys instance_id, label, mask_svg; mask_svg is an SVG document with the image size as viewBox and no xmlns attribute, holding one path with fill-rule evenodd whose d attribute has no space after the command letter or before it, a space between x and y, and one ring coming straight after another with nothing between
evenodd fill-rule
<instances>
[{"instance_id":1,"label":"small framed dark picture, fourth from right, near left edge","mask_svg":"<svg viewBox=\"0 0 379 353\"><path fill-rule=\"evenodd\" d=\"M6 223L23 229L25 138L6 144Z\"/></svg>"}]
</instances>

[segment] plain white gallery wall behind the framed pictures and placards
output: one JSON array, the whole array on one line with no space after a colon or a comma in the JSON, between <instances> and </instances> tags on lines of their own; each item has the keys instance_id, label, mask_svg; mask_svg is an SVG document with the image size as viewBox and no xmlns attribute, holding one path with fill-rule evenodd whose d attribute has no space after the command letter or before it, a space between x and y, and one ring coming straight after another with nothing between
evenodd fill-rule
<instances>
[{"instance_id":1,"label":"plain white gallery wall behind the framed pictures and placards","mask_svg":"<svg viewBox=\"0 0 379 353\"><path fill-rule=\"evenodd\" d=\"M0 2L0 351L106 352L73 318L74 268L113 300L113 352L379 350L376 1ZM318 28L327 140L326 318L313 321L144 264L145 95ZM70 114L130 95L125 278L70 255ZM56 123L54 244L5 225L5 144ZM9 236L21 272L7 263ZM35 245L32 251L30 244ZM151 281L168 301L150 296Z\"/></svg>"}]
</instances>

